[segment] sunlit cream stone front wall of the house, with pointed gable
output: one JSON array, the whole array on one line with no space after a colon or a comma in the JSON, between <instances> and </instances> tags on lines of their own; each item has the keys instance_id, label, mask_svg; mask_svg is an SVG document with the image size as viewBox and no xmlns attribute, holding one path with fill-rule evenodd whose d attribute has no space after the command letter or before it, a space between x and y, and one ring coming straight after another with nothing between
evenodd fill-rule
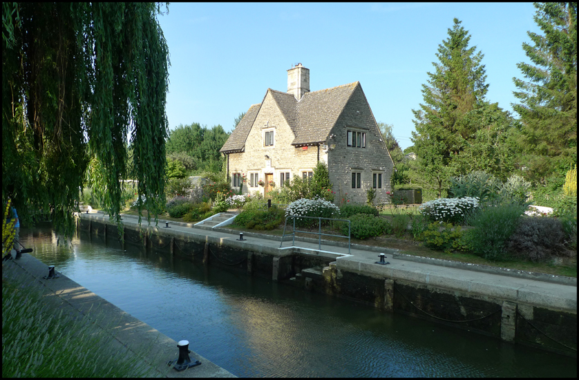
<instances>
[{"instance_id":1,"label":"sunlit cream stone front wall of the house, with pointed gable","mask_svg":"<svg viewBox=\"0 0 579 380\"><path fill-rule=\"evenodd\" d=\"M274 131L274 145L265 146L265 132ZM271 93L267 93L254 126L247 135L245 152L229 155L229 173L245 173L247 182L243 186L244 193L264 192L264 188L249 187L249 174L258 173L260 180L265 180L265 174L272 174L276 186L280 185L280 173L289 173L290 177L300 175L303 171L313 171L318 162L316 146L307 150L292 146L294 133L285 121ZM267 155L266 158L265 156ZM320 159L323 159L320 151Z\"/></svg>"}]
</instances>

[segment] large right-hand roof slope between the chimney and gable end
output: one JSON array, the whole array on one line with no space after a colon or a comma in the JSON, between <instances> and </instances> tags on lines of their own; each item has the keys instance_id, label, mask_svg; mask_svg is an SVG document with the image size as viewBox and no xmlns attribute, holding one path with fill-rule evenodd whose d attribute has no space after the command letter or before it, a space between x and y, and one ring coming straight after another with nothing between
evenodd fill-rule
<instances>
[{"instance_id":1,"label":"large right-hand roof slope between the chimney and gable end","mask_svg":"<svg viewBox=\"0 0 579 380\"><path fill-rule=\"evenodd\" d=\"M354 82L305 93L297 102L298 122L292 145L325 141L358 85Z\"/></svg>"}]
</instances>

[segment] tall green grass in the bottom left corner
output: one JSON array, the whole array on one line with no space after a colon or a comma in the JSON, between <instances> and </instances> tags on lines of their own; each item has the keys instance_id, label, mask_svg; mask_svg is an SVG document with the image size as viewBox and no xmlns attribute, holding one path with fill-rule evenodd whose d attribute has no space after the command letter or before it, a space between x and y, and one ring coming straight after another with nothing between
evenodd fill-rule
<instances>
[{"instance_id":1,"label":"tall green grass in the bottom left corner","mask_svg":"<svg viewBox=\"0 0 579 380\"><path fill-rule=\"evenodd\" d=\"M3 275L2 377L163 376L97 328L95 312L69 310L39 283Z\"/></svg>"}]
</instances>

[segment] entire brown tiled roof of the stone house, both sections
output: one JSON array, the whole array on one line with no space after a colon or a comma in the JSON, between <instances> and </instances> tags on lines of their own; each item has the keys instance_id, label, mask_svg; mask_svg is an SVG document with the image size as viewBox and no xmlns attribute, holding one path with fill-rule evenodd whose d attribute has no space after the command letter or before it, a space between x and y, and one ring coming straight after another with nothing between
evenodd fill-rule
<instances>
[{"instance_id":1,"label":"entire brown tiled roof of the stone house, both sections","mask_svg":"<svg viewBox=\"0 0 579 380\"><path fill-rule=\"evenodd\" d=\"M292 145L307 145L324 142L348 100L359 86L359 82L343 84L325 90L305 93L298 102L294 95L268 88L272 93L285 121L292 129L294 141ZM267 93L266 93L267 97ZM265 100L265 97L263 98ZM263 104L263 101L262 101ZM245 140L251 126L256 120L261 104L249 107L243 119L231 133L229 139L220 149L222 153L241 152L245 148Z\"/></svg>"}]
</instances>

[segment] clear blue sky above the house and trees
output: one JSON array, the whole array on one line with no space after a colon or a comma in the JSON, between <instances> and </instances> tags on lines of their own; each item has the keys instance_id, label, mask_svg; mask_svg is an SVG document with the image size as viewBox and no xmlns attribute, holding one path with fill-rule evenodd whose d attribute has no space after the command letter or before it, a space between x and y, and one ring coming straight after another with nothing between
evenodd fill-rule
<instances>
[{"instance_id":1,"label":"clear blue sky above the house and trees","mask_svg":"<svg viewBox=\"0 0 579 380\"><path fill-rule=\"evenodd\" d=\"M486 99L512 112L522 43L540 32L532 3L171 3L159 16L169 45L169 129L198 122L233 129L267 88L287 91L287 70L310 69L310 91L359 81L377 122L402 149L412 109L457 17L484 54ZM515 113L515 117L518 115Z\"/></svg>"}]
</instances>

